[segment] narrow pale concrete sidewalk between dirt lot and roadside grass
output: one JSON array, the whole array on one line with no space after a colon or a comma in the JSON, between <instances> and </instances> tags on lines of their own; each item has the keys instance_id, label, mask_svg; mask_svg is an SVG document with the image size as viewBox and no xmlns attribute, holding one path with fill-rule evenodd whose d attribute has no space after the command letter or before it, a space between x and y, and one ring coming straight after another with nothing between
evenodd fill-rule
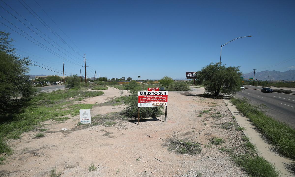
<instances>
[{"instance_id":1,"label":"narrow pale concrete sidewalk between dirt lot and roadside grass","mask_svg":"<svg viewBox=\"0 0 295 177\"><path fill-rule=\"evenodd\" d=\"M235 120L237 121L239 126L245 127L245 130L243 130L243 132L247 137L250 137L249 141L252 144L255 144L257 148L257 154L261 157L264 157L269 162L273 163L276 168L280 170L282 177L295 176L286 168L288 164L292 163L292 161L288 158L282 157L276 152L273 152L273 145L267 143L266 140L262 138L262 134L256 130L256 127L252 125L248 118L244 117L242 113L237 110L237 107L232 105L230 100L224 100L224 103L227 105L232 115L235 116Z\"/></svg>"}]
</instances>

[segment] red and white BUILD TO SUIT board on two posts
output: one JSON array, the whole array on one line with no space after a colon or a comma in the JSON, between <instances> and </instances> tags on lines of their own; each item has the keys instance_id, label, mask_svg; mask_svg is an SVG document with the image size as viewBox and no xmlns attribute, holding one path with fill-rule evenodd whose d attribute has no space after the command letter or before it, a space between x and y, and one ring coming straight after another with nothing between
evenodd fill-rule
<instances>
[{"instance_id":1,"label":"red and white BUILD TO SUIT board on two posts","mask_svg":"<svg viewBox=\"0 0 295 177\"><path fill-rule=\"evenodd\" d=\"M167 91L139 91L138 92L138 107L154 107L167 106L168 92Z\"/></svg>"}]
</instances>

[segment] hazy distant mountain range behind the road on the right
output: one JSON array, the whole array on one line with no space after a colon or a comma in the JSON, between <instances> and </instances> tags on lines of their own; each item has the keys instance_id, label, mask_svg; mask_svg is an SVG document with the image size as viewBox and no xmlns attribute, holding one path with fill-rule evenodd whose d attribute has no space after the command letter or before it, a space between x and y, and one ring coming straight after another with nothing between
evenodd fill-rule
<instances>
[{"instance_id":1,"label":"hazy distant mountain range behind the road on the right","mask_svg":"<svg viewBox=\"0 0 295 177\"><path fill-rule=\"evenodd\" d=\"M285 72L279 72L279 71L261 71L261 72L255 72L255 78L258 80L267 80L268 79L268 73L269 73L269 80L275 80L275 81L280 81L280 80L286 80L287 81L294 81L295 80L295 70L289 70ZM254 72L244 74L244 78L249 78L253 77ZM293 79L291 79L293 78Z\"/></svg>"}]
</instances>

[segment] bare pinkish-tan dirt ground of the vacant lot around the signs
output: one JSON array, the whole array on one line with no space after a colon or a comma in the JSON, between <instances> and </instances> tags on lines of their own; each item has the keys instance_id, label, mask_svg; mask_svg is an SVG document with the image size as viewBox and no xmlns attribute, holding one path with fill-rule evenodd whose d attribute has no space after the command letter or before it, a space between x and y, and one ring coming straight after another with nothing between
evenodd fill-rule
<instances>
[{"instance_id":1,"label":"bare pinkish-tan dirt ground of the vacant lot around the signs","mask_svg":"<svg viewBox=\"0 0 295 177\"><path fill-rule=\"evenodd\" d=\"M104 103L120 96L119 90L112 87L104 92L78 103ZM48 129L45 137L35 138L37 131L32 131L9 142L14 154L0 166L0 176L45 177L53 168L62 172L61 176L77 177L248 176L232 162L228 153L219 151L226 147L243 153L242 132L235 130L237 123L224 101L198 96L203 92L203 88L168 92L167 122L163 122L164 116L141 120L140 125L122 119L112 120L115 123L111 126L77 125L79 116L62 123L43 122L42 128ZM96 105L91 116L123 109L124 105ZM212 109L210 113L201 113L208 109ZM222 117L211 117L218 112L215 115ZM230 129L220 128L224 122L232 122ZM201 153L176 154L168 150L166 139L171 137L201 143ZM225 142L210 144L213 137L223 137ZM89 172L91 164L97 169Z\"/></svg>"}]
</instances>

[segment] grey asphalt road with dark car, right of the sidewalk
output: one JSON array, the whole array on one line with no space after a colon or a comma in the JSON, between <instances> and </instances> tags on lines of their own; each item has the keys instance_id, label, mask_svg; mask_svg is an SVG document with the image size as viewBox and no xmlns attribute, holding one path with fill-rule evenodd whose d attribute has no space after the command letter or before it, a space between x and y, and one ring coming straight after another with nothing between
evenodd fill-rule
<instances>
[{"instance_id":1,"label":"grey asphalt road with dark car, right of the sidewalk","mask_svg":"<svg viewBox=\"0 0 295 177\"><path fill-rule=\"evenodd\" d=\"M295 95L285 93L263 93L261 90L252 90L255 88L244 85L245 90L237 93L238 98L246 97L254 104L265 104L268 108L263 109L266 114L286 123L295 128Z\"/></svg>"}]
</instances>

